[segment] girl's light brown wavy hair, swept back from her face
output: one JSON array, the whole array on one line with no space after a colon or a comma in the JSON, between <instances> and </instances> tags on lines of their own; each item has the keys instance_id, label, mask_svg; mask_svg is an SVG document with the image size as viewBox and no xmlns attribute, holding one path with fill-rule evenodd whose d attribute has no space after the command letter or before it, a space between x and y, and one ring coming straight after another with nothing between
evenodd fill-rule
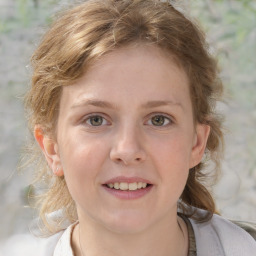
<instances>
[{"instance_id":1,"label":"girl's light brown wavy hair, swept back from her face","mask_svg":"<svg viewBox=\"0 0 256 256\"><path fill-rule=\"evenodd\" d=\"M211 128L204 161L190 170L179 202L187 216L197 219L193 207L198 207L208 210L211 217L215 203L202 167L211 160L215 164L211 180L217 176L223 134L215 104L222 83L204 34L168 1L89 0L62 13L32 56L32 83L25 99L30 130L39 124L45 133L54 135L63 86L81 77L102 55L136 42L156 45L176 57L190 81L194 120ZM58 221L74 222L75 204L65 178L52 175L35 141L30 158L31 154L37 163L37 181L47 185L40 197L40 216L48 230L55 232L56 223L49 224L47 215L62 210Z\"/></svg>"}]
</instances>

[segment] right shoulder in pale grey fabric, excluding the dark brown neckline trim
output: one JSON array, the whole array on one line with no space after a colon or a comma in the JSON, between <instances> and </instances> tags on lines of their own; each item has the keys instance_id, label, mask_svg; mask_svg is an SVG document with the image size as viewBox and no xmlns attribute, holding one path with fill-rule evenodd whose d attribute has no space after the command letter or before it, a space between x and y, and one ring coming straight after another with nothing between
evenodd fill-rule
<instances>
[{"instance_id":1,"label":"right shoulder in pale grey fabric, excluding the dark brown neckline trim","mask_svg":"<svg viewBox=\"0 0 256 256\"><path fill-rule=\"evenodd\" d=\"M205 211L201 211L204 214ZM194 229L197 255L251 256L256 251L255 225L231 222L219 215L204 223L190 220Z\"/></svg>"}]
</instances>

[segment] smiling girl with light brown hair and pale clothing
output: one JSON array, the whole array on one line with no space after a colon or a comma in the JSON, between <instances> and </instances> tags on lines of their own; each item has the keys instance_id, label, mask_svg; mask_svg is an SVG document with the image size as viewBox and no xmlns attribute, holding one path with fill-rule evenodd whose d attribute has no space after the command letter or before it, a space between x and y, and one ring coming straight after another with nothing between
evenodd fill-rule
<instances>
[{"instance_id":1,"label":"smiling girl with light brown hair and pale clothing","mask_svg":"<svg viewBox=\"0 0 256 256\"><path fill-rule=\"evenodd\" d=\"M203 33L168 1L81 3L32 65L40 217L56 233L45 255L255 253L253 226L216 215L205 187L222 153L222 84Z\"/></svg>"}]
</instances>

